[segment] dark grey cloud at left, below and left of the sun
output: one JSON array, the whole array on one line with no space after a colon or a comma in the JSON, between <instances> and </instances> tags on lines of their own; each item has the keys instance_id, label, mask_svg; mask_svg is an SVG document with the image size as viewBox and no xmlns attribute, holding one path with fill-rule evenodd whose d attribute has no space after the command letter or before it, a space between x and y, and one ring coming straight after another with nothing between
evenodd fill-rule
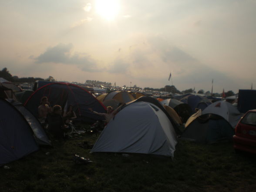
<instances>
[{"instance_id":1,"label":"dark grey cloud at left, below and left of the sun","mask_svg":"<svg viewBox=\"0 0 256 192\"><path fill-rule=\"evenodd\" d=\"M75 64L83 71L101 71L98 68L97 62L90 55L85 53L71 54L72 44L58 44L55 47L48 47L47 50L34 58L36 63L61 63Z\"/></svg>"}]
</instances>

